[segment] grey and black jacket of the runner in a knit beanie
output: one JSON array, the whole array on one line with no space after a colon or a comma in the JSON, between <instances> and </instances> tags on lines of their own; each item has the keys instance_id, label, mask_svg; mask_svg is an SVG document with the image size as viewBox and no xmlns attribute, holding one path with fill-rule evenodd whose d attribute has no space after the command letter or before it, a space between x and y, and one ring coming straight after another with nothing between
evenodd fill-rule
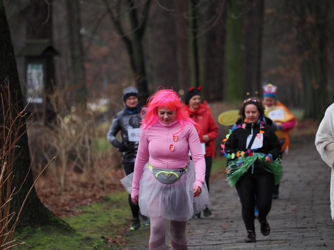
<instances>
[{"instance_id":1,"label":"grey and black jacket of the runner in a knit beanie","mask_svg":"<svg viewBox=\"0 0 334 250\"><path fill-rule=\"evenodd\" d=\"M134 163L136 160L138 142L129 142L128 131L129 129L140 128L140 111L141 108L138 107L134 112L127 109L118 112L107 134L108 141L122 153L123 163ZM116 139L119 131L121 131L122 142Z\"/></svg>"}]
</instances>

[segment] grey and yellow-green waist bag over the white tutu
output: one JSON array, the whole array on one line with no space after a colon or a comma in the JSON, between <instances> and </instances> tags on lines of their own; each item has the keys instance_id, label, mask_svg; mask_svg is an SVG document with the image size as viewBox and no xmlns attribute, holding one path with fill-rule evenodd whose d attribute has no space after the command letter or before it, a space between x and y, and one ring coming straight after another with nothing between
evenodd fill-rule
<instances>
[{"instance_id":1,"label":"grey and yellow-green waist bag over the white tutu","mask_svg":"<svg viewBox=\"0 0 334 250\"><path fill-rule=\"evenodd\" d=\"M187 171L188 166L180 169L163 169L155 168L148 163L148 169L153 173L154 177L161 183L172 184L180 179Z\"/></svg>"}]
</instances>

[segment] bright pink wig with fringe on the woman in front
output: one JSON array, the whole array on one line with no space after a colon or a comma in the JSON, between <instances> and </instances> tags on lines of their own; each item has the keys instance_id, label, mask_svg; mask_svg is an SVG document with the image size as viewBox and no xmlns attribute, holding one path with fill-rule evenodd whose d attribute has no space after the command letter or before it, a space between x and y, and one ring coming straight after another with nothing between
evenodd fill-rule
<instances>
[{"instance_id":1,"label":"bright pink wig with fringe on the woman in front","mask_svg":"<svg viewBox=\"0 0 334 250\"><path fill-rule=\"evenodd\" d=\"M142 110L142 115L145 116L142 121L143 130L149 129L158 122L158 108L161 107L176 110L176 119L181 124L181 130L186 123L193 124L197 131L200 130L198 124L189 117L178 93L172 89L158 90L147 99L147 108Z\"/></svg>"}]
</instances>

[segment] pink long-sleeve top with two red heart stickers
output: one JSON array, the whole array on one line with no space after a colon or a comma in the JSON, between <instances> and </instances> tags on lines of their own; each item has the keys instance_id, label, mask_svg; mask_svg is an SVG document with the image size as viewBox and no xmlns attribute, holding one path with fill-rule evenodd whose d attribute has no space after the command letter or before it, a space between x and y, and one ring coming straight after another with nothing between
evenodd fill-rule
<instances>
[{"instance_id":1,"label":"pink long-sleeve top with two red heart stickers","mask_svg":"<svg viewBox=\"0 0 334 250\"><path fill-rule=\"evenodd\" d=\"M156 168L180 169L189 163L189 150L195 165L195 185L202 187L205 177L205 160L198 133L193 124L170 124L158 121L140 134L139 147L134 165L131 197L139 195L139 181L147 162ZM177 136L174 137L173 136ZM176 142L175 142L176 141ZM174 150L171 150L171 145Z\"/></svg>"}]
</instances>

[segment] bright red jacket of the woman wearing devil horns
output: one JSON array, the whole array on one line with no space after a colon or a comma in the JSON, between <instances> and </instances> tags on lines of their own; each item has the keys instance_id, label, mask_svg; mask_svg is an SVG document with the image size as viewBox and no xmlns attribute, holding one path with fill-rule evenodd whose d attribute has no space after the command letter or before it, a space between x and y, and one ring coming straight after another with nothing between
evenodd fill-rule
<instances>
[{"instance_id":1,"label":"bright red jacket of the woman wearing devil horns","mask_svg":"<svg viewBox=\"0 0 334 250\"><path fill-rule=\"evenodd\" d=\"M198 134L201 143L204 143L204 135L208 135L210 138L210 141L205 145L205 157L214 157L216 149L213 141L218 137L218 127L212 117L210 107L207 106L207 102L204 102L204 104L201 104L195 112L191 111L188 105L187 110L190 118L196 121L201 128L201 131Z\"/></svg>"}]
</instances>

